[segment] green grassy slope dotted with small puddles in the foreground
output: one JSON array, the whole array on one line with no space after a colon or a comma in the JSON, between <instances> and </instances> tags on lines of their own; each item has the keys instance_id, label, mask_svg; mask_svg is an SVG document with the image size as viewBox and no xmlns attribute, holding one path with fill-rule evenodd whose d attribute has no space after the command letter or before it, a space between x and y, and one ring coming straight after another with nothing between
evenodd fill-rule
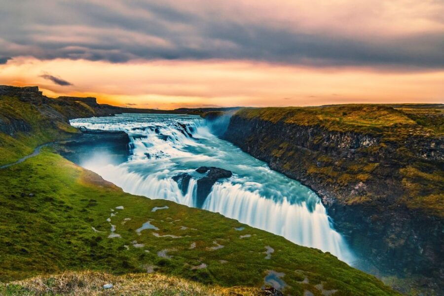
<instances>
[{"instance_id":1,"label":"green grassy slope dotted with small puddles in the foreground","mask_svg":"<svg viewBox=\"0 0 444 296\"><path fill-rule=\"evenodd\" d=\"M291 295L396 295L328 253L220 214L124 193L48 148L0 170L0 213L3 282L66 270L154 271L223 287L277 278Z\"/></svg>"}]
</instances>

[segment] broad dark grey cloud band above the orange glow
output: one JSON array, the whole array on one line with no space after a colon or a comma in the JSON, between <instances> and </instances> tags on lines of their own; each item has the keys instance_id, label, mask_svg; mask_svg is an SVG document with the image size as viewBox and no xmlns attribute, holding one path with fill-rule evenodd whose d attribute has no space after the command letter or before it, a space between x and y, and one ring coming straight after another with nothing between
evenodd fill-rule
<instances>
[{"instance_id":1,"label":"broad dark grey cloud band above the orange glow","mask_svg":"<svg viewBox=\"0 0 444 296\"><path fill-rule=\"evenodd\" d=\"M443 32L390 38L307 34L214 11L185 12L180 5L160 0L0 0L0 4L0 56L112 63L248 59L319 67L444 68Z\"/></svg>"}]
</instances>

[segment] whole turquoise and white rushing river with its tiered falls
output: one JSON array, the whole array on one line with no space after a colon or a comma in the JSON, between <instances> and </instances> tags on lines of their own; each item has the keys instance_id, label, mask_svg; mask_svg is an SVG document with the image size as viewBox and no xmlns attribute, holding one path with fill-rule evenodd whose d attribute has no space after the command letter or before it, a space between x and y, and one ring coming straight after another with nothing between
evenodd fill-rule
<instances>
[{"instance_id":1,"label":"whole turquoise and white rushing river with its tiered falls","mask_svg":"<svg viewBox=\"0 0 444 296\"><path fill-rule=\"evenodd\" d=\"M290 241L330 252L351 263L353 256L329 220L320 198L308 187L271 170L266 163L219 139L198 116L120 114L71 120L73 126L125 131L131 156L120 165L91 155L81 165L126 192L196 207L200 166L230 170L213 185L202 208L282 235ZM185 193L172 178L192 176Z\"/></svg>"}]
</instances>

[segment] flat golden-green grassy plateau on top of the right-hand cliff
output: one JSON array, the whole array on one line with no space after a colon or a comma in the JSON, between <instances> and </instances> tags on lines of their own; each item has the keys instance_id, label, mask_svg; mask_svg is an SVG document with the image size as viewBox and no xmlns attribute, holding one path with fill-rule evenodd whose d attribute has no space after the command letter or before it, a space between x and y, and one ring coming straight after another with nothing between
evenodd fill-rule
<instances>
[{"instance_id":1,"label":"flat golden-green grassy plateau on top of the right-hand cliff","mask_svg":"<svg viewBox=\"0 0 444 296\"><path fill-rule=\"evenodd\" d=\"M404 136L442 136L444 105L349 104L320 107L269 107L241 109L237 116L273 123L321 126L331 131L379 134L392 139Z\"/></svg>"}]
</instances>

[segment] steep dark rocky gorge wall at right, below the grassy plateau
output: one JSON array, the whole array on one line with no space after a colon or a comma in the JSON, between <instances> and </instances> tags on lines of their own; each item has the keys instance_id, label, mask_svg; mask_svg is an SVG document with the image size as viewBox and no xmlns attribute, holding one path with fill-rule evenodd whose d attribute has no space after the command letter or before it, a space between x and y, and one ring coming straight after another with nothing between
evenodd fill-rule
<instances>
[{"instance_id":1,"label":"steep dark rocky gorge wall at right, below the grassy plateau","mask_svg":"<svg viewBox=\"0 0 444 296\"><path fill-rule=\"evenodd\" d=\"M272 122L248 111L231 117L223 138L314 189L362 259L360 268L377 275L424 276L424 286L440 290L443 217L412 200L418 198L414 194L426 199L442 194L437 181L428 180L442 176L442 138L387 140L383 132ZM430 192L417 193L415 186Z\"/></svg>"}]
</instances>

